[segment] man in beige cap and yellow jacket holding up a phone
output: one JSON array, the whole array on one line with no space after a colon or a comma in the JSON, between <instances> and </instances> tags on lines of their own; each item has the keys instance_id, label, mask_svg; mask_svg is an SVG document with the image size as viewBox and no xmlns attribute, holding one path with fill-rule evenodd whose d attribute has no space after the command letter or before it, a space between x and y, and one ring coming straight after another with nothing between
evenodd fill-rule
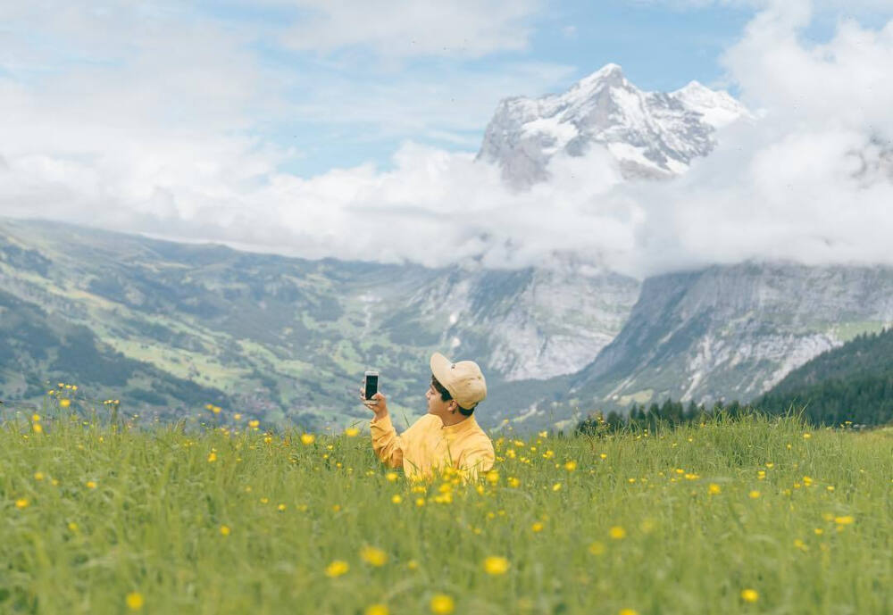
<instances>
[{"instance_id":1,"label":"man in beige cap and yellow jacket holding up a phone","mask_svg":"<svg viewBox=\"0 0 893 615\"><path fill-rule=\"evenodd\" d=\"M400 436L384 395L379 392L363 400L375 413L370 425L372 450L389 467L402 467L407 477L429 477L435 470L452 467L467 478L477 478L493 467L495 459L493 443L472 416L487 397L487 382L473 361L454 363L434 353L430 366L428 414Z\"/></svg>"}]
</instances>

